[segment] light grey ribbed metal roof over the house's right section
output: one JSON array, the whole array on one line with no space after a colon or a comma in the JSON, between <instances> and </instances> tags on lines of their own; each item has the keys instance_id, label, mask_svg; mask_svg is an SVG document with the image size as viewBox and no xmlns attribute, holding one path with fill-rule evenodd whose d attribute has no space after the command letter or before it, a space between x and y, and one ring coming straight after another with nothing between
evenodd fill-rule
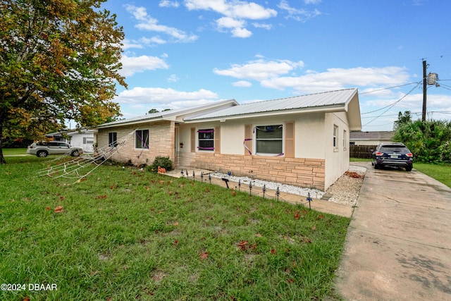
<instances>
[{"instance_id":1,"label":"light grey ribbed metal roof over the house's right section","mask_svg":"<svg viewBox=\"0 0 451 301\"><path fill-rule=\"evenodd\" d=\"M226 118L232 116L245 116L257 113L274 113L302 109L324 109L333 106L345 107L357 94L357 88L307 94L302 96L267 100L264 102L251 102L231 106L226 109L212 111L211 113L187 116L184 121L201 121L212 118Z\"/></svg>"}]
</instances>

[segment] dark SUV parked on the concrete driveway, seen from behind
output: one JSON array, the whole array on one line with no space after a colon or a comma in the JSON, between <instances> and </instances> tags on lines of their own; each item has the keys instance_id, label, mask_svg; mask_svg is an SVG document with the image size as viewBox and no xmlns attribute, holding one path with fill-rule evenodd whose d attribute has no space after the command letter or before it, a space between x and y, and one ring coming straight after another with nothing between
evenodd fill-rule
<instances>
[{"instance_id":1,"label":"dark SUV parked on the concrete driveway, seen from behind","mask_svg":"<svg viewBox=\"0 0 451 301\"><path fill-rule=\"evenodd\" d=\"M378 169L383 166L404 167L412 171L414 154L402 143L381 143L371 154L371 164Z\"/></svg>"}]
</instances>

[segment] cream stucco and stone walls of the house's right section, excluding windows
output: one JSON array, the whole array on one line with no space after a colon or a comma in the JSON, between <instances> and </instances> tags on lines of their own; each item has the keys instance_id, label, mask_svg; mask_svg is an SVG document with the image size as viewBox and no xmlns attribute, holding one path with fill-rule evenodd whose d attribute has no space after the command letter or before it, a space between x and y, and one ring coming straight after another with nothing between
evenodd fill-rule
<instances>
[{"instance_id":1,"label":"cream stucco and stone walls of the house's right section, excluding windows","mask_svg":"<svg viewBox=\"0 0 451 301\"><path fill-rule=\"evenodd\" d=\"M339 126L340 145L342 145L342 130L347 130L347 145L349 145L349 129L346 121L345 113L308 113L248 118L245 122L226 120L223 123L180 124L180 142L183 142L183 149L179 149L179 165L209 170L230 170L242 175L249 175L252 171L257 178L326 190L349 168L349 147L339 147L334 152L332 146L333 124ZM295 123L295 158L245 155L243 147L245 124L252 124L254 127L285 125L286 122ZM190 129L215 127L221 127L221 153L190 152ZM254 153L255 147L252 149Z\"/></svg>"}]
</instances>

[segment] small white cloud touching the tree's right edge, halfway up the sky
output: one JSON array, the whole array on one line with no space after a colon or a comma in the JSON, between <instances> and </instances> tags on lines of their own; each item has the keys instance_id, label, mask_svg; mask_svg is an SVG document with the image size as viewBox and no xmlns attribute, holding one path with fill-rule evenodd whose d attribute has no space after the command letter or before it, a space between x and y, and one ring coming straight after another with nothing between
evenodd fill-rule
<instances>
[{"instance_id":1,"label":"small white cloud touching the tree's right edge, halfway up the sky","mask_svg":"<svg viewBox=\"0 0 451 301\"><path fill-rule=\"evenodd\" d=\"M146 70L167 69L166 61L156 56L126 56L121 58L121 75L131 76Z\"/></svg>"}]
</instances>

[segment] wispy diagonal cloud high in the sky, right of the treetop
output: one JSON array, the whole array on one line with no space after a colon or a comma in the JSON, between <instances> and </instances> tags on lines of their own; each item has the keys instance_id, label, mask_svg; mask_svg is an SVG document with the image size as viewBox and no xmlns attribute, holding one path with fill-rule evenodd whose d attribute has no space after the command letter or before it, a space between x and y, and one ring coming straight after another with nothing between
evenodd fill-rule
<instances>
[{"instance_id":1,"label":"wispy diagonal cloud high in the sky, right of the treetop","mask_svg":"<svg viewBox=\"0 0 451 301\"><path fill-rule=\"evenodd\" d=\"M188 35L183 30L178 30L175 27L170 27L166 25L159 25L159 21L152 18L147 14L147 10L144 7L137 7L130 4L125 5L125 9L131 13L136 20L139 21L136 28L140 30L149 30L154 32L162 32L166 35L172 37L174 42L194 42L198 39L197 35ZM161 44L161 43L159 43Z\"/></svg>"}]
</instances>

